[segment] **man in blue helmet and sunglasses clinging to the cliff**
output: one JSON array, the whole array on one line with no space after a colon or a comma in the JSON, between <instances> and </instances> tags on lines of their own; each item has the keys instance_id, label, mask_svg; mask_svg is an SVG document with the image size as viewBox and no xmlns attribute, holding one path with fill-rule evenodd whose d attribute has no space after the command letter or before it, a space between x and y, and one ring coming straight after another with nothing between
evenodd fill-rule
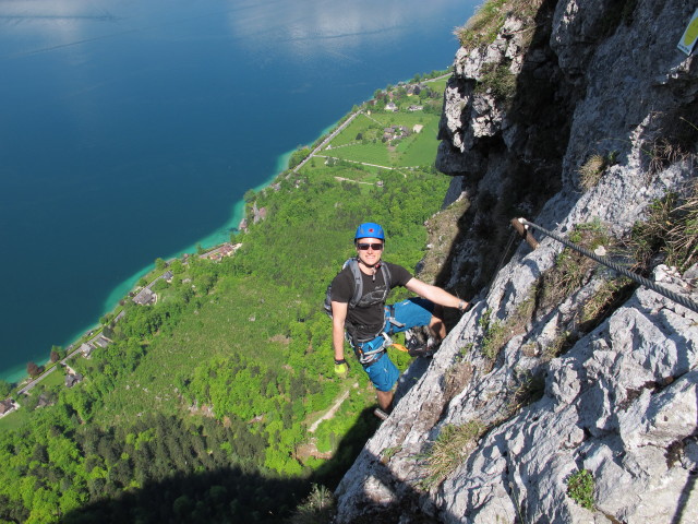
<instances>
[{"instance_id":1,"label":"man in blue helmet and sunglasses clinging to the cliff","mask_svg":"<svg viewBox=\"0 0 698 524\"><path fill-rule=\"evenodd\" d=\"M346 338L376 389L381 409L389 413L393 388L400 374L386 352L392 344L389 335L426 325L433 337L441 342L446 336L446 326L438 306L458 308L464 312L468 302L418 281L400 265L383 262L385 234L378 224L361 224L354 235L354 246L357 258L335 277L329 291L335 372L346 376L348 371L344 348L346 330ZM389 290L397 286L404 286L422 298L386 306ZM361 296L356 297L359 288Z\"/></svg>"}]
</instances>

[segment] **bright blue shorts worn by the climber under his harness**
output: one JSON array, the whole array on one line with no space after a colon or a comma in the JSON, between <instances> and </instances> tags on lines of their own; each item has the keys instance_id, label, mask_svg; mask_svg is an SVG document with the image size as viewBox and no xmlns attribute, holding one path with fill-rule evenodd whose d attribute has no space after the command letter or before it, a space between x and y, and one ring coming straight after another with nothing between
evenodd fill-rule
<instances>
[{"instance_id":1,"label":"bright blue shorts worn by the climber under his harness","mask_svg":"<svg viewBox=\"0 0 698 524\"><path fill-rule=\"evenodd\" d=\"M434 303L425 298L416 297L397 302L394 305L394 318L404 325L396 326L388 320L390 309L386 306L385 325L383 329L386 333L393 334L407 331L410 327L417 327L418 325L429 325L433 311ZM364 346L371 347L373 344L382 344L383 341L383 336L377 336L373 341L364 343ZM400 377L400 371L395 367L387 352L383 352L376 361L364 366L363 369L369 373L371 382L373 382L373 385L378 391L390 391Z\"/></svg>"}]
</instances>

